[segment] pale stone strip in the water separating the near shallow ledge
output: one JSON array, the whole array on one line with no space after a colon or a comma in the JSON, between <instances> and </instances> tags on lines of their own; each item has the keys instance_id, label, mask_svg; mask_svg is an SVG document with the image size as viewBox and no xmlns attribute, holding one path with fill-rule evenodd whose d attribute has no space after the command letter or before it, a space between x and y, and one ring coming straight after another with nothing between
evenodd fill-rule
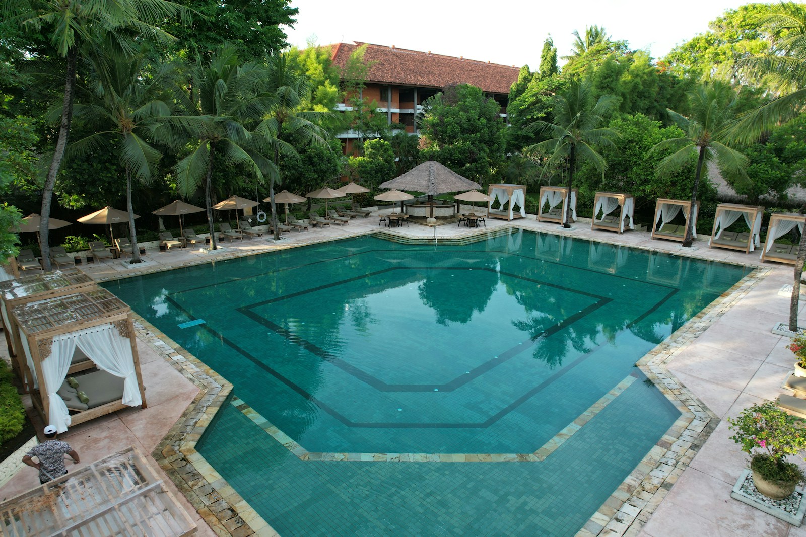
<instances>
[{"instance_id":1,"label":"pale stone strip in the water separating the near shallow ledge","mask_svg":"<svg viewBox=\"0 0 806 537\"><path fill-rule=\"evenodd\" d=\"M232 399L231 405L237 408L258 427L278 443L299 457L301 461L365 461L365 462L540 462L555 452L575 432L583 428L595 415L604 410L621 393L635 382L631 374L593 403L555 436L550 438L534 453L348 453L348 452L309 452L295 440L280 431L268 419L260 415L242 399Z\"/></svg>"}]
</instances>

